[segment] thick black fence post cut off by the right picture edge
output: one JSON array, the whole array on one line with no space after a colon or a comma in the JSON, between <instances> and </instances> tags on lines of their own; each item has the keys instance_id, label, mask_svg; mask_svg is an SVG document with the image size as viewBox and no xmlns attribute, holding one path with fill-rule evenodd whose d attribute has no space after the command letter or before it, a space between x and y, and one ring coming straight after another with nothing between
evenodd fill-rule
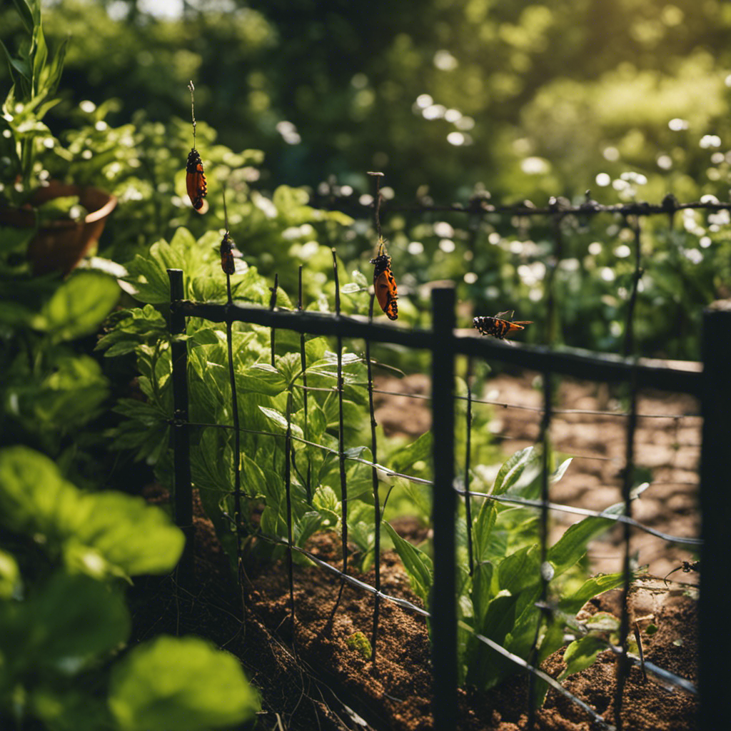
<instances>
[{"instance_id":1,"label":"thick black fence post cut off by the right picture edge","mask_svg":"<svg viewBox=\"0 0 731 731\"><path fill-rule=\"evenodd\" d=\"M699 685L700 728L713 731L727 715L731 686L731 634L726 616L729 588L731 480L731 302L715 303L703 313L703 417L700 453L700 508L703 547L700 557Z\"/></svg>"}]
</instances>

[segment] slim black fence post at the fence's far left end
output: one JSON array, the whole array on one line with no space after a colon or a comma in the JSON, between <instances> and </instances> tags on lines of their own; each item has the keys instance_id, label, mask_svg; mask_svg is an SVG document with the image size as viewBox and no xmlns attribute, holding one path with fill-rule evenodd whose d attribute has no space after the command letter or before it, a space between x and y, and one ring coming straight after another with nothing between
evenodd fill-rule
<instances>
[{"instance_id":1,"label":"slim black fence post at the fence's far left end","mask_svg":"<svg viewBox=\"0 0 731 731\"><path fill-rule=\"evenodd\" d=\"M190 477L190 441L188 433L188 349L184 335L185 315L177 303L185 297L183 270L168 269L170 279L170 351L173 359L173 485L175 488L175 523L185 534L185 548L178 563L177 580L184 588L192 588L194 570L193 488Z\"/></svg>"}]
</instances>

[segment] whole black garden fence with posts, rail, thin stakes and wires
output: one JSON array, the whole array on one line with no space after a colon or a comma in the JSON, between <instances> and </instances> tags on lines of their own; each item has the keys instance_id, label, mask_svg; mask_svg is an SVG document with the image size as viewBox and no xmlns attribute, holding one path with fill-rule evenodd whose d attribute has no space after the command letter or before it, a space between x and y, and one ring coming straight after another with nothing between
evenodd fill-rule
<instances>
[{"instance_id":1,"label":"whole black garden fence with posts, rail, thin stakes and wires","mask_svg":"<svg viewBox=\"0 0 731 731\"><path fill-rule=\"evenodd\" d=\"M609 212L619 213L621 216L636 216L637 221L642 216L650 216L658 213L671 214L682 208L703 208L708 211L728 210L731 204L720 204L718 202L699 202L690 204L678 204L672 197L666 197L662 205L651 206L647 204L633 204L622 206L599 206L587 201L585 205L572 208L562 205L552 199L546 209L512 207L496 208L487 206L485 202L478 202L470 208L447 207L450 211L463 211L466 213L501 213L507 216L550 216L556 222L556 258L553 262L560 260L560 220L570 213L581 213L593 215L594 213ZM392 210L395 210L392 209ZM421 208L420 210L425 210ZM433 210L445 210L441 207L433 207ZM634 351L634 336L632 322L634 319L634 307L637 295L637 286L642 274L642 262L640 262L640 227L635 228L635 277L633 289L630 292L629 307L625 330L625 353L626 357L613 355L599 355L592 352L581 351L561 347L552 349L549 346L514 345L507 346L500 341L491 338L480 338L479 336L467 336L455 330L455 290L453 287L436 287L431 292L432 326L430 330L405 330L389 325L379 325L372 322L373 319L373 295L371 295L371 310L368 319L362 317L347 317L340 311L340 288L338 283L338 270L333 250L333 272L336 284L335 312L325 314L302 309L301 289L301 268L300 268L300 302L296 311L282 311L276 309L276 284L273 288L273 296L270 308L253 306L242 306L232 302L229 287L229 300L226 304L219 303L196 303L185 300L183 294L183 271L168 270L170 277L170 331L173 335L173 391L175 403L175 415L173 419L173 447L175 460L175 518L179 526L186 532L186 551L183 553L181 564L178 569L178 580L183 585L192 583L192 557L193 557L193 531L192 531L192 483L189 462L189 429L192 426L210 426L217 428L229 428L234 431L235 448L234 454L239 454L238 436L240 432L247 431L245 426L238 423L238 406L235 404L235 382L233 379L232 366L232 323L245 322L249 324L262 325L272 329L272 342L276 329L287 329L300 333L301 354L304 359L304 335L330 336L336 338L336 356L338 364L337 383L334 390L338 393L340 401L339 409L339 444L338 450L333 450L322 444L307 442L292 433L291 423L287 423L286 433L270 433L273 439L284 442L284 454L292 453L292 441L299 440L306 444L312 444L322 450L333 452L337 455L341 477L341 497L343 504L342 518L342 549L343 567L336 569L330 564L312 556L306 550L292 545L292 518L291 518L291 481L290 472L291 460L285 458L285 490L287 495L287 523L288 539L282 541L276 537L269 537L270 540L282 542L289 547L289 592L290 610L292 621L294 621L294 589L292 572L292 551L297 550L305 553L315 564L328 572L335 572L341 577L341 591L344 582L357 586L363 591L370 592L375 596L374 611L374 635L373 653L376 658L377 648L377 626L379 601L385 600L395 602L402 607L419 613L423 616L430 616L432 619L432 648L433 648L433 677L434 677L434 725L436 729L457 728L457 628L458 618L455 607L455 519L457 518L458 500L464 496L469 520L470 496L482 497L505 502L536 507L540 512L541 529L540 556L541 567L546 564L547 536L548 536L548 513L553 510L573 512L579 515L598 515L602 518L616 520L623 526L623 572L624 586L622 588L623 612L621 616L620 640L617 646L611 647L617 656L618 687L615 702L616 728L621 729L621 705L624 683L629 673L629 665L638 662L627 651L629 637L629 613L627 611L627 599L630 589L630 553L629 537L631 531L647 531L660 537L667 542L678 545L688 545L695 550L700 548L702 577L700 585L700 700L701 700L701 727L710 731L715 729L718 720L724 717L724 700L726 689L731 685L731 671L728 667L728 658L731 651L731 637L727 632L724 621L727 599L729 599L728 582L725 577L727 569L727 526L731 525L731 491L729 490L729 478L726 454L729 440L731 438L731 306L724 306L723 303L716 303L705 310L703 314L702 330L702 371L699 369L687 369L679 363L663 363L661 361L644 358L629 357ZM230 280L229 280L230 282ZM548 292L549 316L552 304L552 294ZM232 425L196 425L189 421L188 413L188 391L186 382L187 353L186 342L183 338L175 336L185 333L186 317L199 317L211 322L224 322L227 325L227 342L229 348L230 379L232 385L232 414L234 423ZM368 395L371 405L371 436L372 436L372 461L366 461L352 455L348 455L344 448L344 417L342 409L343 399L343 370L342 370L342 341L343 338L359 338L366 342L366 365L368 366ZM355 577L349 575L347 565L347 484L345 463L347 460L357 460L371 466L374 484L375 502L375 526L376 526L376 556L379 555L379 525L380 505L377 493L378 470L387 474L397 474L379 465L376 458L375 420L373 412L373 377L371 372L370 344L388 343L404 346L406 349L423 349L431 354L431 412L433 431L433 480L398 474L412 482L420 482L431 485L433 491L433 567L434 567L434 591L431 606L428 611L417 607L393 596L388 596L381 591L379 585L379 561L376 558L376 580L375 586L369 586ZM272 346L273 349L273 346ZM469 359L480 358L482 360L493 360L501 363L508 363L531 371L538 371L542 374L543 383L543 406L539 409L542 412L539 442L543 442L542 450L544 455L544 466L542 471L542 496L540 500L519 499L509 496L492 496L485 493L475 493L469 489L469 424L471 404L482 401L474 398L469 390L466 396L455 396L455 357L466 356ZM556 504L550 501L548 485L548 434L550 423L554 414L552 401L552 376L561 374L573 376L577 379L584 379L594 382L624 383L629 389L629 410L628 412L603 412L618 414L626 417L626 460L623 471L622 499L624 501L624 515L613 515L605 512L594 512L583 508L571 507ZM306 403L308 387L306 380L303 384L303 394ZM700 467L700 506L702 510L702 535L698 538L678 537L664 534L660 531L645 526L632 518L632 466L635 461L635 428L637 426L637 393L643 388L654 388L671 393L687 393L700 399L702 426L702 451ZM468 412L467 428L467 457L464 480L457 480L455 474L455 398L466 398ZM489 402L489 401L488 401ZM577 410L573 410L577 411ZM589 412L591 413L591 412ZM652 414L651 414L652 415ZM262 432L257 432L262 433ZM238 456L235 458L235 485L232 486L232 494L235 499L235 514L240 515L240 473ZM237 525L237 529L238 529ZM548 572L541 572L542 602L545 605L548 596L548 583L550 575ZM338 597L339 598L339 597ZM548 605L546 605L548 607ZM336 603L337 607L337 603ZM547 609L548 613L548 609ZM469 629L466 625L463 629ZM573 697L561 685L542 673L537 667L531 667L529 662L496 645L487 637L478 635L478 639L515 662L523 670L530 674L531 685L535 678L541 678L555 688L558 692L571 697L586 711L597 727L612 728L594 709L589 708L585 702ZM665 681L674 683L686 692L696 692L696 689L683 678L678 678L659 667L645 663L652 672ZM529 726L534 723L532 715L533 705L527 704L529 708Z\"/></svg>"}]
</instances>

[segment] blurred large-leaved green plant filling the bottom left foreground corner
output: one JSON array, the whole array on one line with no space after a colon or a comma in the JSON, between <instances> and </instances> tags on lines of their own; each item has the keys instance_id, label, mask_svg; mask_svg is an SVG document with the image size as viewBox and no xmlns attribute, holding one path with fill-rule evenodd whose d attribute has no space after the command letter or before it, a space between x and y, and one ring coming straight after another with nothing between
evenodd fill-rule
<instances>
[{"instance_id":1,"label":"blurred large-leaved green plant filling the bottom left foreground corner","mask_svg":"<svg viewBox=\"0 0 731 731\"><path fill-rule=\"evenodd\" d=\"M49 731L203 731L258 702L194 637L127 651L125 582L166 573L184 537L140 498L83 493L48 458L0 450L0 722Z\"/></svg>"}]
</instances>

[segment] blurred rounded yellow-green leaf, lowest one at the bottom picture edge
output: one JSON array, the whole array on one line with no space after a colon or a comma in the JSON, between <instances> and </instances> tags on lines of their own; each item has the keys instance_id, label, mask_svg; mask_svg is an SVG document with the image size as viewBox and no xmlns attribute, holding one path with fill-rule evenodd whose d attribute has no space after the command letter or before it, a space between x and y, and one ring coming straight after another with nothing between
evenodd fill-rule
<instances>
[{"instance_id":1,"label":"blurred rounded yellow-green leaf, lowest one at the bottom picture edge","mask_svg":"<svg viewBox=\"0 0 731 731\"><path fill-rule=\"evenodd\" d=\"M260 708L234 656L197 637L158 637L112 670L109 705L122 731L205 731Z\"/></svg>"}]
</instances>

